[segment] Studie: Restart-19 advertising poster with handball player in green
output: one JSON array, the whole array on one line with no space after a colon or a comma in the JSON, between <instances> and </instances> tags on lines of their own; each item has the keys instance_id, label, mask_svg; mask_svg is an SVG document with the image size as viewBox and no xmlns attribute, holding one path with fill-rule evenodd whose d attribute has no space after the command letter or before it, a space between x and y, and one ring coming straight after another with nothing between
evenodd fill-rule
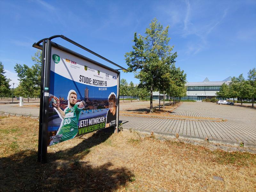
<instances>
[{"instance_id":1,"label":"Studie: Restart-19 advertising poster with handball player in green","mask_svg":"<svg viewBox=\"0 0 256 192\"><path fill-rule=\"evenodd\" d=\"M48 146L116 125L117 84L117 73L52 47Z\"/></svg>"}]
</instances>

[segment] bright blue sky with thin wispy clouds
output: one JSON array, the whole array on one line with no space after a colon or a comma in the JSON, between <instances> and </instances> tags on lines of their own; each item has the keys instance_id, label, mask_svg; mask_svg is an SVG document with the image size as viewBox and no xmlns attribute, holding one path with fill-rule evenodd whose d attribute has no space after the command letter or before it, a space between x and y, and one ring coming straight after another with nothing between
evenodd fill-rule
<instances>
[{"instance_id":1,"label":"bright blue sky with thin wispy clouds","mask_svg":"<svg viewBox=\"0 0 256 192\"><path fill-rule=\"evenodd\" d=\"M16 63L32 66L34 42L64 35L127 68L133 33L144 34L156 17L169 25L176 66L189 82L219 81L256 67L256 1L3 1L0 0L0 61L6 76L18 83ZM117 68L55 39L69 49ZM132 73L121 78L139 83ZM11 82L11 83L12 83ZM15 87L17 85L15 84Z\"/></svg>"}]
</instances>

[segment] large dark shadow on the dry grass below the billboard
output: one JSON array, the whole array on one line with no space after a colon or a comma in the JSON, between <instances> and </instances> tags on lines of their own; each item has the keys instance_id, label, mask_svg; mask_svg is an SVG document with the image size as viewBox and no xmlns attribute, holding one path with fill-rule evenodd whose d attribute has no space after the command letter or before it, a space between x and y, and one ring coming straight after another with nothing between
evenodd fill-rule
<instances>
[{"instance_id":1,"label":"large dark shadow on the dry grass below the billboard","mask_svg":"<svg viewBox=\"0 0 256 192\"><path fill-rule=\"evenodd\" d=\"M48 153L48 163L37 162L37 151L22 150L0 159L0 191L113 191L134 176L111 162L92 167L83 159L90 148L107 140L113 129L96 132L73 148Z\"/></svg>"}]
</instances>

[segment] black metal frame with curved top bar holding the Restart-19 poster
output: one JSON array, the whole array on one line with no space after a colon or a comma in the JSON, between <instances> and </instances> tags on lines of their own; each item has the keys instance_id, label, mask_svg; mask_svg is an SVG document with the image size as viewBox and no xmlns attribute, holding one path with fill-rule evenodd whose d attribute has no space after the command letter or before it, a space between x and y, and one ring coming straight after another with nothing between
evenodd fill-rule
<instances>
[{"instance_id":1,"label":"black metal frame with curved top bar holding the Restart-19 poster","mask_svg":"<svg viewBox=\"0 0 256 192\"><path fill-rule=\"evenodd\" d=\"M47 162L47 136L48 136L48 109L49 109L49 84L50 84L50 70L51 70L51 51L52 47L55 47L57 49L60 49L61 51L67 52L69 54L72 54L76 57L79 57L83 60L89 61L97 66L100 66L102 68L106 68L110 71L113 71L117 73L117 113L116 113L116 119L117 123L115 128L115 133L118 132L119 127L119 86L120 86L120 69L113 69L106 65L103 65L97 61L94 61L88 57L85 57L77 52L74 52L66 47L63 47L57 43L52 42L51 40L53 38L60 37L72 44L75 44L76 46L84 49L85 51L88 51L97 57L100 57L103 60L108 61L109 63L119 67L120 69L123 69L125 71L128 71L127 69L121 67L120 65L114 63L113 61L108 60L107 58L97 54L96 52L93 52L92 50L84 47L81 44L76 43L75 41L63 36L63 35L56 35L51 36L49 38L44 38L37 43L34 43L32 46L42 50L42 72L41 72L41 92L40 92L40 113L39 113L39 135L38 135L38 156L37 161L41 163ZM43 43L43 45L41 45Z\"/></svg>"}]
</instances>

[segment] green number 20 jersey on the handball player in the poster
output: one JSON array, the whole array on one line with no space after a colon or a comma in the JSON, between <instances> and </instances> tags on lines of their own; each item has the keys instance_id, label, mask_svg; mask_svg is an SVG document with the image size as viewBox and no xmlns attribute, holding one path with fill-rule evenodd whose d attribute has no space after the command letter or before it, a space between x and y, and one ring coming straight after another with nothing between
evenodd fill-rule
<instances>
[{"instance_id":1,"label":"green number 20 jersey on the handball player in the poster","mask_svg":"<svg viewBox=\"0 0 256 192\"><path fill-rule=\"evenodd\" d=\"M60 141L72 139L78 132L78 119L82 109L78 108L77 104L72 108L67 108L65 118L62 121L60 132L62 134Z\"/></svg>"}]
</instances>

